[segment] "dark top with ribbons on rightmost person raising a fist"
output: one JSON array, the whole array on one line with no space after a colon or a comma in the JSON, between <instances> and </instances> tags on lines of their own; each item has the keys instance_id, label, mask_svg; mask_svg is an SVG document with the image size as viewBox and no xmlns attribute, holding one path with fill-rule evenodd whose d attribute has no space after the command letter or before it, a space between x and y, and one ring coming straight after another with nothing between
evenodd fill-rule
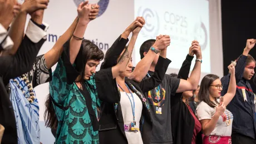
<instances>
[{"instance_id":1,"label":"dark top with ribbons on rightmost person raising a fist","mask_svg":"<svg viewBox=\"0 0 256 144\"><path fill-rule=\"evenodd\" d=\"M247 137L256 139L256 118L255 118L255 104L254 93L248 80L243 78L244 69L246 66L247 56L241 55L235 66L235 80L237 83L237 91L235 96L230 101L227 109L232 112L234 119L232 124L232 133L239 133ZM230 74L221 78L223 90L221 96L228 92L230 82ZM242 91L245 91L245 97ZM225 99L225 98L224 98Z\"/></svg>"}]
</instances>

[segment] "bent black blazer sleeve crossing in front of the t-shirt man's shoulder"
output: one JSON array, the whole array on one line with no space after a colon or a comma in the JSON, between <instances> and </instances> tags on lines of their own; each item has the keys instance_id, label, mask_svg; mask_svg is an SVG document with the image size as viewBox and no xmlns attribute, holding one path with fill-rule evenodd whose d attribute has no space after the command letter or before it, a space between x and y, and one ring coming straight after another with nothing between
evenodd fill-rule
<instances>
[{"instance_id":1,"label":"bent black blazer sleeve crossing in front of the t-shirt man's shoulder","mask_svg":"<svg viewBox=\"0 0 256 144\"><path fill-rule=\"evenodd\" d=\"M150 78L142 80L139 83L139 86L142 92L150 91L156 88L157 85L161 84L161 82L164 79L168 65L170 63L171 63L171 60L167 58L165 59L162 56L159 56L157 64L155 66L154 74Z\"/></svg>"}]
</instances>

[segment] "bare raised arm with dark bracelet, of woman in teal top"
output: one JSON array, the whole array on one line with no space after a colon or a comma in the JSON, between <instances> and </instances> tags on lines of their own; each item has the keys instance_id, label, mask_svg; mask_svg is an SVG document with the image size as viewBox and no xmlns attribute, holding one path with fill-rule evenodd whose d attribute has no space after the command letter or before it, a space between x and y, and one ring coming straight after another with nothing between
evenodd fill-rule
<instances>
[{"instance_id":1,"label":"bare raised arm with dark bracelet, of woman in teal top","mask_svg":"<svg viewBox=\"0 0 256 144\"><path fill-rule=\"evenodd\" d=\"M76 56L80 50L83 35L85 34L86 27L90 22L89 14L91 11L91 4L88 4L88 1L82 2L77 8L78 12L78 23L76 25L75 32L70 39L70 63L75 62Z\"/></svg>"}]
</instances>

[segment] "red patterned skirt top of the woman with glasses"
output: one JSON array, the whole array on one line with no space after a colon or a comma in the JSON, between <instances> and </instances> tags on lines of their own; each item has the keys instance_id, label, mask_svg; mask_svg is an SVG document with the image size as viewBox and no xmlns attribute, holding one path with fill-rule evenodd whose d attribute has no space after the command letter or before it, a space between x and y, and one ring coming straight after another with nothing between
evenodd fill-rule
<instances>
[{"instance_id":1,"label":"red patterned skirt top of the woman with glasses","mask_svg":"<svg viewBox=\"0 0 256 144\"><path fill-rule=\"evenodd\" d=\"M203 144L232 144L230 136L204 136Z\"/></svg>"}]
</instances>

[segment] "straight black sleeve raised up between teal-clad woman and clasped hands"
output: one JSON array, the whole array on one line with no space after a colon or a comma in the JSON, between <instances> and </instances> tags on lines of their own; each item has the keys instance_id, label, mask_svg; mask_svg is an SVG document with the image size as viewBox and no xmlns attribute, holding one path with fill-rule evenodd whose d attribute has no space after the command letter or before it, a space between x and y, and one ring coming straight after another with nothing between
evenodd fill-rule
<instances>
[{"instance_id":1,"label":"straight black sleeve raised up between teal-clad woman and clasped hands","mask_svg":"<svg viewBox=\"0 0 256 144\"><path fill-rule=\"evenodd\" d=\"M129 39L121 38L121 35L115 40L112 46L107 50L103 63L100 69L110 68L117 64L117 58L124 50L125 45L128 43Z\"/></svg>"}]
</instances>

